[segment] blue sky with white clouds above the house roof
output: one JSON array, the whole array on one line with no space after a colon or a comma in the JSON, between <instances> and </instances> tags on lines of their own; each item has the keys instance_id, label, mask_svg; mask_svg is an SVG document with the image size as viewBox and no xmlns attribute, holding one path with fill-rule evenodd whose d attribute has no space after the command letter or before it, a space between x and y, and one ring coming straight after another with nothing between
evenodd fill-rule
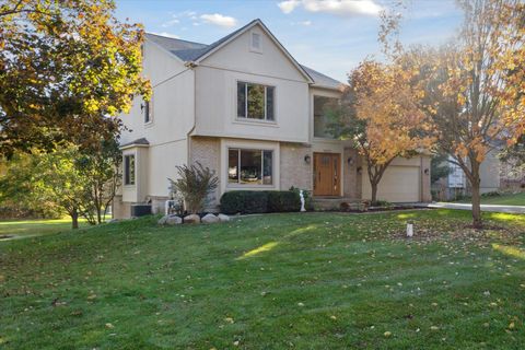
<instances>
[{"instance_id":1,"label":"blue sky with white clouds above the house roof","mask_svg":"<svg viewBox=\"0 0 525 350\"><path fill-rule=\"evenodd\" d=\"M211 44L260 19L302 65L346 82L366 57L380 57L378 14L394 0L116 0L116 15L147 32ZM439 45L463 20L454 0L411 0L404 45Z\"/></svg>"}]
</instances>

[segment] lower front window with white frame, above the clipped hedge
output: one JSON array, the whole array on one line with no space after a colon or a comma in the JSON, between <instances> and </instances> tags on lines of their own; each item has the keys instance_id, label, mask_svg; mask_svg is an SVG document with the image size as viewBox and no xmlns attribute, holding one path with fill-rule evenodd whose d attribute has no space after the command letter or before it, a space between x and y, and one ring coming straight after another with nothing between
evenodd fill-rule
<instances>
[{"instance_id":1,"label":"lower front window with white frame, above the clipped hedge","mask_svg":"<svg viewBox=\"0 0 525 350\"><path fill-rule=\"evenodd\" d=\"M228 152L228 183L241 185L271 185L273 151L230 149Z\"/></svg>"}]
</instances>

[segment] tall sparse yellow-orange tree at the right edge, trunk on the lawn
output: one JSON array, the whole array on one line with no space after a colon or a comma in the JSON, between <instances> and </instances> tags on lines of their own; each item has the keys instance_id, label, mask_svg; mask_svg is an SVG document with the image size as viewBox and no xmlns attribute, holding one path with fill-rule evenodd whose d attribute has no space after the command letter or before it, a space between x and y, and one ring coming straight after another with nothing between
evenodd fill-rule
<instances>
[{"instance_id":1,"label":"tall sparse yellow-orange tree at the right edge, trunk on the lawn","mask_svg":"<svg viewBox=\"0 0 525 350\"><path fill-rule=\"evenodd\" d=\"M499 144L515 142L525 122L520 114L523 95L517 93L523 81L515 80L510 63L511 58L523 63L516 52L523 50L525 33L516 24L524 8L518 0L459 3L465 23L457 40L407 56L424 77L421 105L432 121L436 151L451 155L464 171L471 187L472 225L481 228L480 165Z\"/></svg>"}]
</instances>

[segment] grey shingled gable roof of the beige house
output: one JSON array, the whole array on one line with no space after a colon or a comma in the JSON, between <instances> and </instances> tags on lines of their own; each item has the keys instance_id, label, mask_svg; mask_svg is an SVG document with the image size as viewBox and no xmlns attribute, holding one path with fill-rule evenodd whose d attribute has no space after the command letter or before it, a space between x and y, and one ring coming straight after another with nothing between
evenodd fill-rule
<instances>
[{"instance_id":1,"label":"grey shingled gable roof of the beige house","mask_svg":"<svg viewBox=\"0 0 525 350\"><path fill-rule=\"evenodd\" d=\"M230 43L231 40L233 40L234 38L257 24L261 26L266 34L283 51L283 54L290 59L290 61L306 78L310 83L327 89L338 89L341 85L339 81L322 74L311 68L300 65L259 19L249 22L243 27L236 30L233 33L230 33L229 35L220 38L219 40L210 45L160 36L151 33L147 33L145 38L161 46L162 48L170 51L172 55L176 56L178 59L186 63L199 63L202 59L205 59L206 57L220 49L221 47L223 47L224 45L226 45L228 43ZM314 79L314 75L317 77L317 79Z\"/></svg>"}]
</instances>

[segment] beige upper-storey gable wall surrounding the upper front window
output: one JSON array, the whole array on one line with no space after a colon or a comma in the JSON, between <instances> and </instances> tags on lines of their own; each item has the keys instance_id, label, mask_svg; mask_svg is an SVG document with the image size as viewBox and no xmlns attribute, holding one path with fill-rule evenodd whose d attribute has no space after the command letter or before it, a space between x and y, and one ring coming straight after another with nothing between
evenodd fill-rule
<instances>
[{"instance_id":1,"label":"beige upper-storey gable wall surrounding the upper front window","mask_svg":"<svg viewBox=\"0 0 525 350\"><path fill-rule=\"evenodd\" d=\"M308 82L256 27L262 51L249 49L250 32L206 58L196 69L196 136L308 142ZM275 86L275 121L237 118L237 81Z\"/></svg>"}]
</instances>

